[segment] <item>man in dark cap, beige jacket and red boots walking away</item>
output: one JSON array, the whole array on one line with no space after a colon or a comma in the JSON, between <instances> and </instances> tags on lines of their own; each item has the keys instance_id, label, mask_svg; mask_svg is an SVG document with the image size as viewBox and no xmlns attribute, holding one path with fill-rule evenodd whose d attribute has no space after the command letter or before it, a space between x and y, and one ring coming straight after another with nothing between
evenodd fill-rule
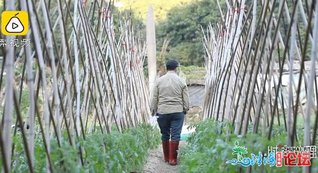
<instances>
[{"instance_id":1,"label":"man in dark cap, beige jacket and red boots walking away","mask_svg":"<svg viewBox=\"0 0 318 173\"><path fill-rule=\"evenodd\" d=\"M184 115L189 110L188 88L177 75L177 67L175 60L166 62L167 73L156 80L150 105L152 114L158 116L164 161L170 165L177 164Z\"/></svg>"}]
</instances>

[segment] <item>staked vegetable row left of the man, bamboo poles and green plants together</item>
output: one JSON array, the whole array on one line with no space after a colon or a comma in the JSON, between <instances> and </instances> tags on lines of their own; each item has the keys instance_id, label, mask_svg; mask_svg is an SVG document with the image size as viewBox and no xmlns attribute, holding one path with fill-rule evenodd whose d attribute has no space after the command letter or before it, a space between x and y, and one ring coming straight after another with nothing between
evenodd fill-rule
<instances>
[{"instance_id":1,"label":"staked vegetable row left of the man, bamboo poles and green plants together","mask_svg":"<svg viewBox=\"0 0 318 173\"><path fill-rule=\"evenodd\" d=\"M2 171L140 171L159 132L129 13L99 1L9 0L29 14L29 46L2 47ZM2 38L1 38L2 39ZM23 128L24 127L24 128Z\"/></svg>"}]
</instances>

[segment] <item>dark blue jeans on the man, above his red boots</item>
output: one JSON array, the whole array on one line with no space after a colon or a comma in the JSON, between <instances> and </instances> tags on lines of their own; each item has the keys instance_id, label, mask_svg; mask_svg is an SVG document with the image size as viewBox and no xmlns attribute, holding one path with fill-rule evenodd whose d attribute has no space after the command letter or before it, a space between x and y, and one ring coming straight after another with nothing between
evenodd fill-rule
<instances>
[{"instance_id":1,"label":"dark blue jeans on the man, above his red boots","mask_svg":"<svg viewBox=\"0 0 318 173\"><path fill-rule=\"evenodd\" d=\"M161 140L180 141L184 121L183 113L157 114Z\"/></svg>"}]
</instances>

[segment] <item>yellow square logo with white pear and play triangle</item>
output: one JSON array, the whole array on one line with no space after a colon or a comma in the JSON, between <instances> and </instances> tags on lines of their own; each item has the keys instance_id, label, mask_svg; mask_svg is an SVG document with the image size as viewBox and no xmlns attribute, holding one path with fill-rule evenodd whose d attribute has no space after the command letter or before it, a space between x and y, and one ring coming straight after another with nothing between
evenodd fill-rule
<instances>
[{"instance_id":1,"label":"yellow square logo with white pear and play triangle","mask_svg":"<svg viewBox=\"0 0 318 173\"><path fill-rule=\"evenodd\" d=\"M3 11L1 32L3 35L26 35L28 32L28 13L26 11Z\"/></svg>"}]
</instances>

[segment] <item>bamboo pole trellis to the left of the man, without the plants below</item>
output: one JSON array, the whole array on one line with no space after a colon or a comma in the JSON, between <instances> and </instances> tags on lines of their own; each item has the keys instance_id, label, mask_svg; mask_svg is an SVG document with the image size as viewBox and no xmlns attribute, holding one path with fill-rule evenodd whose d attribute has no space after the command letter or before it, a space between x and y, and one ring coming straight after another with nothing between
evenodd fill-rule
<instances>
[{"instance_id":1,"label":"bamboo pole trellis to the left of the man, without the plants below","mask_svg":"<svg viewBox=\"0 0 318 173\"><path fill-rule=\"evenodd\" d=\"M85 139L97 128L109 133L115 124L121 131L150 116L143 71L146 43L139 28L130 15L116 17L112 1L86 2L7 0L6 10L28 12L29 32L1 39L30 39L30 46L2 47L0 153L6 173L11 170L12 137L23 121L29 125L21 134L32 173L36 135L44 139L46 169L52 172L50 139L61 146L63 131L76 147L76 138ZM26 103L21 103L23 92ZM22 104L28 110L21 110Z\"/></svg>"}]
</instances>

